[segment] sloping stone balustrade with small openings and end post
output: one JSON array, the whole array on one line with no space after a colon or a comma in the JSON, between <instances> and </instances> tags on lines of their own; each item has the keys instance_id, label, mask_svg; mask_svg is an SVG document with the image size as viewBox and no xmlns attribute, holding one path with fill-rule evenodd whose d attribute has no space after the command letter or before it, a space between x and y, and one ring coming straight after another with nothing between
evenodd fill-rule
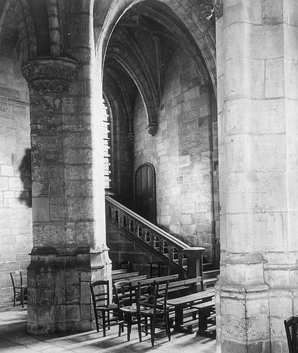
<instances>
[{"instance_id":1,"label":"sloping stone balustrade with small openings and end post","mask_svg":"<svg viewBox=\"0 0 298 353\"><path fill-rule=\"evenodd\" d=\"M169 269L186 278L202 277L202 256L205 248L192 248L161 230L139 214L106 196L106 220L124 232L147 252L158 256Z\"/></svg>"}]
</instances>

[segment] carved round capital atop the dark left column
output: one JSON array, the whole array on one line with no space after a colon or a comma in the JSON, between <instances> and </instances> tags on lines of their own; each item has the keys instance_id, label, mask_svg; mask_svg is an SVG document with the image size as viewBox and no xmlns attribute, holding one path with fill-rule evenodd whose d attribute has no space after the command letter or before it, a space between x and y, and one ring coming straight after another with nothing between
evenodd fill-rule
<instances>
[{"instance_id":1,"label":"carved round capital atop the dark left column","mask_svg":"<svg viewBox=\"0 0 298 353\"><path fill-rule=\"evenodd\" d=\"M23 63L21 71L30 92L68 92L77 75L77 61L66 58L42 58Z\"/></svg>"}]
</instances>

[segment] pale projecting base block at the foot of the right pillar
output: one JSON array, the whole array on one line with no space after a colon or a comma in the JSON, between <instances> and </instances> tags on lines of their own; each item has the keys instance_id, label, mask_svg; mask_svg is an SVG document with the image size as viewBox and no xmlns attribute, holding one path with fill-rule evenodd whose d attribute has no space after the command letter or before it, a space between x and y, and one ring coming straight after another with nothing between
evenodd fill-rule
<instances>
[{"instance_id":1,"label":"pale projecting base block at the foot of the right pillar","mask_svg":"<svg viewBox=\"0 0 298 353\"><path fill-rule=\"evenodd\" d=\"M269 353L268 285L215 285L217 353Z\"/></svg>"}]
</instances>

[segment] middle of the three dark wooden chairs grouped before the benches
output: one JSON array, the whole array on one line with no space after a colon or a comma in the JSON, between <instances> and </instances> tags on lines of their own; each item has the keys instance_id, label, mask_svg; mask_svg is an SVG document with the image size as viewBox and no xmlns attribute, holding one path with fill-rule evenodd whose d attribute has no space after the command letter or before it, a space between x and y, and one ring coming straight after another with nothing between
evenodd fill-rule
<instances>
[{"instance_id":1,"label":"middle of the three dark wooden chairs grouped before the benches","mask_svg":"<svg viewBox=\"0 0 298 353\"><path fill-rule=\"evenodd\" d=\"M127 327L127 340L130 341L131 327L137 323L137 305L132 295L132 286L130 281L119 281L113 284L113 293L115 303L118 305L119 311L119 331L121 336L123 327ZM139 336L140 338L140 336ZM141 339L140 339L141 341Z\"/></svg>"}]
</instances>

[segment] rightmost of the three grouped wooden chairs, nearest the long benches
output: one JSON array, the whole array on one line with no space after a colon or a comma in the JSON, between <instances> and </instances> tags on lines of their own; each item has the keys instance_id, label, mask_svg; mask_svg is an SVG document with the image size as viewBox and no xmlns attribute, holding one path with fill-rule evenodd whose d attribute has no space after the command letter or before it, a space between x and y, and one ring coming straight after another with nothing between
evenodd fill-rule
<instances>
[{"instance_id":1,"label":"rightmost of the three grouped wooden chairs, nearest the long benches","mask_svg":"<svg viewBox=\"0 0 298 353\"><path fill-rule=\"evenodd\" d=\"M164 328L170 341L170 318L167 306L168 283L162 292L159 291L159 283L154 282L150 288L148 298L144 300L141 294L141 285L139 283L136 289L137 299L137 319L139 338L141 341L141 324L145 325L145 334L148 334L148 319L150 320L151 345L155 342L155 328ZM142 322L143 320L143 322Z\"/></svg>"}]
</instances>

